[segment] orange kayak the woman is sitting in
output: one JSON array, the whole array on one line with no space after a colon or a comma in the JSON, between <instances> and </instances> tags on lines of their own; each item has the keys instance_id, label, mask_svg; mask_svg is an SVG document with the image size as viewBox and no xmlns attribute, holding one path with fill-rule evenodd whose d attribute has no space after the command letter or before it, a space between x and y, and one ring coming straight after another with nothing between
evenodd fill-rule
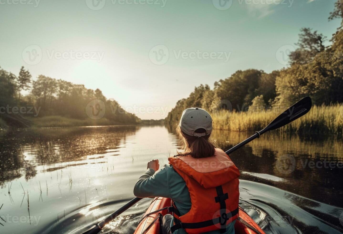
<instances>
[{"instance_id":1,"label":"orange kayak the woman is sitting in","mask_svg":"<svg viewBox=\"0 0 343 234\"><path fill-rule=\"evenodd\" d=\"M143 217L156 210L170 206L170 198L156 197L146 210ZM161 220L163 215L168 214L167 209L152 213L139 223L134 234L160 234ZM263 230L253 221L250 216L239 207L239 219L235 223L235 234L265 234Z\"/></svg>"}]
</instances>

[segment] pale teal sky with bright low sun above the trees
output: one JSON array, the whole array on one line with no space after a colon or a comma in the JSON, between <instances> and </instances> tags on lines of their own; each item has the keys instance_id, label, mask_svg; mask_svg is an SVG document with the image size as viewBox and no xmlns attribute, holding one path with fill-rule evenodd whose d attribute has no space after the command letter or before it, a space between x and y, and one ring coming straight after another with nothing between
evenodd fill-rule
<instances>
[{"instance_id":1,"label":"pale teal sky with bright low sun above the trees","mask_svg":"<svg viewBox=\"0 0 343 234\"><path fill-rule=\"evenodd\" d=\"M301 27L328 38L335 0L0 0L0 66L100 89L161 119L200 84L287 66Z\"/></svg>"}]
</instances>

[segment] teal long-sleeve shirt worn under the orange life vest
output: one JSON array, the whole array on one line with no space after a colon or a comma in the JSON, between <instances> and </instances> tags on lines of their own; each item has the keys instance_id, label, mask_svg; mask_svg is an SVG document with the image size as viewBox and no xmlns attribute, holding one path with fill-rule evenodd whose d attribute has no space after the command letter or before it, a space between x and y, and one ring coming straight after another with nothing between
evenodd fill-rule
<instances>
[{"instance_id":1,"label":"teal long-sleeve shirt worn under the orange life vest","mask_svg":"<svg viewBox=\"0 0 343 234\"><path fill-rule=\"evenodd\" d=\"M164 165L156 173L153 169L147 171L138 179L133 189L136 197L166 197L174 200L181 215L191 209L191 198L185 180L174 170L172 165ZM174 219L174 218L173 218ZM171 226L173 225L171 222ZM235 221L226 226L225 234L234 234ZM184 229L179 229L174 234L185 234ZM206 232L206 234L219 234L220 231Z\"/></svg>"}]
</instances>

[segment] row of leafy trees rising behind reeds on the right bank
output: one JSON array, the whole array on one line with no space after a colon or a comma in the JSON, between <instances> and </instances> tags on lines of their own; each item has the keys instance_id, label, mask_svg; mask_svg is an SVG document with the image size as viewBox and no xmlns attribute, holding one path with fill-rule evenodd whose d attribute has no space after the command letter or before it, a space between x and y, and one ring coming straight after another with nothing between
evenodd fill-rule
<instances>
[{"instance_id":1,"label":"row of leafy trees rising behind reeds on the right bank","mask_svg":"<svg viewBox=\"0 0 343 234\"><path fill-rule=\"evenodd\" d=\"M342 18L343 0L335 3L329 21ZM297 49L289 55L289 67L265 73L249 69L237 71L225 80L195 87L187 98L176 103L166 122L179 121L182 111L202 107L210 112L232 109L236 112L288 107L310 96L315 105L343 102L343 20L330 40L310 28L302 28Z\"/></svg>"}]
</instances>

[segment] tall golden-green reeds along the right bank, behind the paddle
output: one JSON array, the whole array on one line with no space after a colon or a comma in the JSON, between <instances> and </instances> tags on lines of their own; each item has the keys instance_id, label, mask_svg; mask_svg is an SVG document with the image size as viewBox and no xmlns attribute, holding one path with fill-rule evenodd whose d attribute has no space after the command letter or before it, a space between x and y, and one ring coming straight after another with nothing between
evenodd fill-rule
<instances>
[{"instance_id":1,"label":"tall golden-green reeds along the right bank, behind the paddle","mask_svg":"<svg viewBox=\"0 0 343 234\"><path fill-rule=\"evenodd\" d=\"M230 131L258 131L267 126L281 111L228 112L220 110L211 113L213 128ZM342 136L343 105L313 106L309 113L278 129L281 132L334 133Z\"/></svg>"}]
</instances>

